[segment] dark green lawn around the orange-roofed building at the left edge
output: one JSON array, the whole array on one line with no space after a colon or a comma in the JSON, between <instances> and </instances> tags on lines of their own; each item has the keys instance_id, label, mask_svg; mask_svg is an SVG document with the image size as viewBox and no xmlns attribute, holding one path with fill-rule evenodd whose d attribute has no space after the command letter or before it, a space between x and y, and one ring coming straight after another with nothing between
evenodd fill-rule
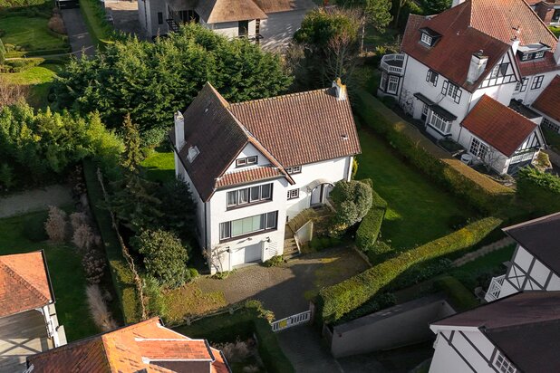
<instances>
[{"instance_id":1,"label":"dark green lawn around the orange-roofed building at the left edge","mask_svg":"<svg viewBox=\"0 0 560 373\"><path fill-rule=\"evenodd\" d=\"M46 212L0 219L0 254L44 250L53 282L58 320L64 325L68 341L99 332L88 310L86 280L80 255L68 245L43 241Z\"/></svg>"}]
</instances>

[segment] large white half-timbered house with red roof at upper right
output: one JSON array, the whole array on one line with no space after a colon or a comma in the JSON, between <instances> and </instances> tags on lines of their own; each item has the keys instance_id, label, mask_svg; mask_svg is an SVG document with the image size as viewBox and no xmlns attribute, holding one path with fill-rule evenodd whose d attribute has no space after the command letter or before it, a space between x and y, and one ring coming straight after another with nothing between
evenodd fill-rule
<instances>
[{"instance_id":1,"label":"large white half-timbered house with red roof at upper right","mask_svg":"<svg viewBox=\"0 0 560 373\"><path fill-rule=\"evenodd\" d=\"M486 107L491 114L507 113L508 106L523 106L519 100L532 103L560 71L560 48L554 34L524 0L454 3L433 16L410 14L401 53L381 59L378 94L395 97L434 138L453 139L478 158L486 155L479 144L492 148L496 139L490 135L494 129L478 131L478 136L465 135L469 112ZM492 101L477 106L485 95ZM530 111L516 110L524 115ZM506 133L501 136L516 141L512 151L494 149L506 158L490 165L500 174L514 172L544 146L537 126L540 116L529 118L536 126L533 133L524 133L524 139L514 133L522 120L513 114L507 117L517 123L503 126L500 130ZM528 145L526 139L531 139ZM488 159L479 157L479 161Z\"/></svg>"}]
</instances>

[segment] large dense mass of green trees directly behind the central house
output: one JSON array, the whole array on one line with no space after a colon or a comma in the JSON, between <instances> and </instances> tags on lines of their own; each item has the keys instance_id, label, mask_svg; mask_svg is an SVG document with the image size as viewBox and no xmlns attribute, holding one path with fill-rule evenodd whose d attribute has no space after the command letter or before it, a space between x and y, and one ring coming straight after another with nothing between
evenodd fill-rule
<instances>
[{"instance_id":1,"label":"large dense mass of green trees directly behind the central house","mask_svg":"<svg viewBox=\"0 0 560 373\"><path fill-rule=\"evenodd\" d=\"M237 102L282 94L292 79L280 58L258 45L188 24L155 43L128 38L92 59L73 59L53 91L61 107L99 110L113 129L121 130L130 113L145 146L163 139L173 113L184 110L207 81Z\"/></svg>"}]
</instances>

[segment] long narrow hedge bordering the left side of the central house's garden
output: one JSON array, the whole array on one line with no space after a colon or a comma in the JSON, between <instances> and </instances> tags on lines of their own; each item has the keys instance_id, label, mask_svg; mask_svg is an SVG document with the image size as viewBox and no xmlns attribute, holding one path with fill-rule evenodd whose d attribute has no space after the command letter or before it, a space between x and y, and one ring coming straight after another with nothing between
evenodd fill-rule
<instances>
[{"instance_id":1,"label":"long narrow hedge bordering the left side of the central house's garden","mask_svg":"<svg viewBox=\"0 0 560 373\"><path fill-rule=\"evenodd\" d=\"M86 159L83 161L83 174L93 217L97 221L101 232L105 253L111 268L113 286L121 303L123 320L126 324L140 321L140 301L134 284L134 274L130 271L129 264L122 256L121 244L111 224L111 215L101 207L104 204L104 196L97 178L96 166L92 160Z\"/></svg>"}]
</instances>

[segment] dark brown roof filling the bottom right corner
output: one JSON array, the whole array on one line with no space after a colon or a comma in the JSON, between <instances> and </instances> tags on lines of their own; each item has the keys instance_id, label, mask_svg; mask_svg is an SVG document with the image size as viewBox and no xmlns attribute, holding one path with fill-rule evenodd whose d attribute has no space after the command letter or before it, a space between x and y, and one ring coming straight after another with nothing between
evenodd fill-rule
<instances>
[{"instance_id":1,"label":"dark brown roof filling the bottom right corner","mask_svg":"<svg viewBox=\"0 0 560 373\"><path fill-rule=\"evenodd\" d=\"M560 292L520 292L432 325L475 327L516 368L560 371Z\"/></svg>"}]
</instances>

